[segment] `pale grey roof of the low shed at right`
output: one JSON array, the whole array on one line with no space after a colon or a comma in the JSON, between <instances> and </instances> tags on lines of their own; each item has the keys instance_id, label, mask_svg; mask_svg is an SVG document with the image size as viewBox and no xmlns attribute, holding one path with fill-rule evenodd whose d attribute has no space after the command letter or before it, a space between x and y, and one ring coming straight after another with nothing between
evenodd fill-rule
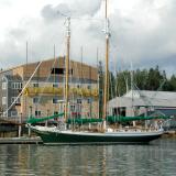
<instances>
[{"instance_id":1,"label":"pale grey roof of the low shed at right","mask_svg":"<svg viewBox=\"0 0 176 176\"><path fill-rule=\"evenodd\" d=\"M169 91L129 91L109 101L109 107L170 107L176 108L176 92Z\"/></svg>"}]
</instances>

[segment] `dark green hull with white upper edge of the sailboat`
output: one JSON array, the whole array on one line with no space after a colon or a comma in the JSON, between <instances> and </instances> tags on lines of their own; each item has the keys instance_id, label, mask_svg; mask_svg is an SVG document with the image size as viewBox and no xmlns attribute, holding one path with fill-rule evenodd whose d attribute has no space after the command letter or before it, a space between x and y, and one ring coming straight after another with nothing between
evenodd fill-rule
<instances>
[{"instance_id":1,"label":"dark green hull with white upper edge of the sailboat","mask_svg":"<svg viewBox=\"0 0 176 176\"><path fill-rule=\"evenodd\" d=\"M44 144L140 144L148 143L161 138L162 132L117 132L117 133L89 133L89 132L52 132L33 129L41 136Z\"/></svg>"}]
</instances>

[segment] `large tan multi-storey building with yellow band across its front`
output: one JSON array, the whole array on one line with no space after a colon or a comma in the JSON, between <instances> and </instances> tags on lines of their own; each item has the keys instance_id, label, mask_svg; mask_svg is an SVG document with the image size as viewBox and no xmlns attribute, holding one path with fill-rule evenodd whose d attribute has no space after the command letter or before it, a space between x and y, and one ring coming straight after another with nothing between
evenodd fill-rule
<instances>
[{"instance_id":1,"label":"large tan multi-storey building with yellow band across its front","mask_svg":"<svg viewBox=\"0 0 176 176\"><path fill-rule=\"evenodd\" d=\"M28 119L31 113L45 117L64 111L65 58L52 58L42 62L40 66L38 64L21 65L0 73L1 116L22 116ZM19 94L22 95L16 99ZM74 117L98 116L96 67L79 62L69 63L69 112Z\"/></svg>"}]
</instances>

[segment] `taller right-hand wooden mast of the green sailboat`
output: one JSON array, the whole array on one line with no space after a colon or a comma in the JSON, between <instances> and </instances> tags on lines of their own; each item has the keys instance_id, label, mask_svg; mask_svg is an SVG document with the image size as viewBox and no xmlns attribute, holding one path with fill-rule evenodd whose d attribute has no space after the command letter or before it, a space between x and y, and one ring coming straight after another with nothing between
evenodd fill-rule
<instances>
[{"instance_id":1,"label":"taller right-hand wooden mast of the green sailboat","mask_svg":"<svg viewBox=\"0 0 176 176\"><path fill-rule=\"evenodd\" d=\"M107 117L107 101L108 101L108 79L109 79L109 19L108 19L108 12L107 12L107 0L106 0L106 75L105 75L105 88L103 88L103 116L102 118L106 120Z\"/></svg>"}]
</instances>

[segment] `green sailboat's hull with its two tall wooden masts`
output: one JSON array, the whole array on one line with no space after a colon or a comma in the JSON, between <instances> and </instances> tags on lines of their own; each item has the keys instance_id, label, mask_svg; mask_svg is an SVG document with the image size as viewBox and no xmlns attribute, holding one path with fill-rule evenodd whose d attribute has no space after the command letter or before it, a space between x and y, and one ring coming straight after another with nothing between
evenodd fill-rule
<instances>
[{"instance_id":1,"label":"green sailboat's hull with its two tall wooden masts","mask_svg":"<svg viewBox=\"0 0 176 176\"><path fill-rule=\"evenodd\" d=\"M106 0L106 77L105 77L105 96L103 96L103 119L100 132L92 131L72 131L67 129L68 120L68 70L69 70L69 41L70 41L70 19L67 18L67 53L66 53L66 85L65 85L65 112L63 128L47 128L29 125L37 135L41 136L44 144L111 144L111 143L148 143L158 139L163 131L138 131L138 130L112 130L107 128L107 100L108 100L108 73L109 73L109 19L107 15ZM63 116L63 113L61 113ZM45 118L52 119L53 117ZM29 121L29 123L32 123Z\"/></svg>"}]
</instances>

